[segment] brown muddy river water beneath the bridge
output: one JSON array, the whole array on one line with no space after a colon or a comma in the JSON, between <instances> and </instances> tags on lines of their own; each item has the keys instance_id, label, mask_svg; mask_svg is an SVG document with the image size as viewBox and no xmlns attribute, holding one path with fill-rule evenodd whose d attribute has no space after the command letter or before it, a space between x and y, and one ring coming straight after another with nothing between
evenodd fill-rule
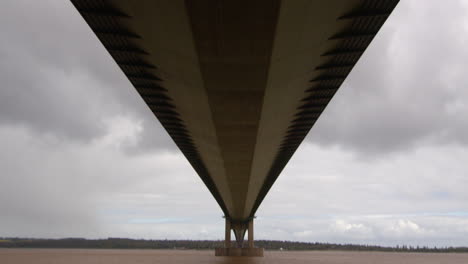
<instances>
[{"instance_id":1,"label":"brown muddy river water beneath the bridge","mask_svg":"<svg viewBox=\"0 0 468 264\"><path fill-rule=\"evenodd\" d=\"M212 250L0 249L0 263L468 264L468 253L266 251L263 258L249 258L215 257Z\"/></svg>"}]
</instances>

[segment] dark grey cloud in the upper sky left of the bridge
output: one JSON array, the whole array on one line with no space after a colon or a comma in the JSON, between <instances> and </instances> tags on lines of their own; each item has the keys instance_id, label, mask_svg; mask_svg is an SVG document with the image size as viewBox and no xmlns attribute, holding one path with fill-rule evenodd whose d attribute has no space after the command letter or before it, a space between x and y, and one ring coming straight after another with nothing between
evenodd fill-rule
<instances>
[{"instance_id":1,"label":"dark grey cloud in the upper sky left of the bridge","mask_svg":"<svg viewBox=\"0 0 468 264\"><path fill-rule=\"evenodd\" d=\"M103 122L141 121L129 152L175 149L94 33L68 1L0 3L0 123L89 141Z\"/></svg>"}]
</instances>

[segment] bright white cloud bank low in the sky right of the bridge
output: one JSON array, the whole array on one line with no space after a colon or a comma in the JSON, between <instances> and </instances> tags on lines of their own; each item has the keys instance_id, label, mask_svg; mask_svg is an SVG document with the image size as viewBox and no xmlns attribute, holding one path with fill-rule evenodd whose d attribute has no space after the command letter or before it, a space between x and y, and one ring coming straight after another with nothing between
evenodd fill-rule
<instances>
[{"instance_id":1,"label":"bright white cloud bank low in the sky right of the bridge","mask_svg":"<svg viewBox=\"0 0 468 264\"><path fill-rule=\"evenodd\" d=\"M257 215L257 237L380 245L465 245L468 149L433 145L369 161L303 144Z\"/></svg>"}]
</instances>

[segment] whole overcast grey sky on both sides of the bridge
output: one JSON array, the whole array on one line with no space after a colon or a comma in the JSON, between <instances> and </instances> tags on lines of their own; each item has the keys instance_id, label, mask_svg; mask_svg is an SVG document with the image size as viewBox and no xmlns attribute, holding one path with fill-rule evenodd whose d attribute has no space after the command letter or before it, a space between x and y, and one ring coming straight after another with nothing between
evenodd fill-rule
<instances>
[{"instance_id":1,"label":"whole overcast grey sky on both sides of the bridge","mask_svg":"<svg viewBox=\"0 0 468 264\"><path fill-rule=\"evenodd\" d=\"M68 2L0 1L0 237L222 239L222 211ZM402 1L256 238L468 245L468 1Z\"/></svg>"}]
</instances>

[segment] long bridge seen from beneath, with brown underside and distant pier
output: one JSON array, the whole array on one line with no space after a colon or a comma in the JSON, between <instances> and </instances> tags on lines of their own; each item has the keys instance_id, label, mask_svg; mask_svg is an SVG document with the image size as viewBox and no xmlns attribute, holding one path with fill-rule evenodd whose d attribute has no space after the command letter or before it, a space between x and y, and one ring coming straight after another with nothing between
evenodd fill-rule
<instances>
[{"instance_id":1,"label":"long bridge seen from beneath, with brown underside and distant pier","mask_svg":"<svg viewBox=\"0 0 468 264\"><path fill-rule=\"evenodd\" d=\"M72 3L221 207L217 255L262 255L255 212L398 0Z\"/></svg>"}]
</instances>

